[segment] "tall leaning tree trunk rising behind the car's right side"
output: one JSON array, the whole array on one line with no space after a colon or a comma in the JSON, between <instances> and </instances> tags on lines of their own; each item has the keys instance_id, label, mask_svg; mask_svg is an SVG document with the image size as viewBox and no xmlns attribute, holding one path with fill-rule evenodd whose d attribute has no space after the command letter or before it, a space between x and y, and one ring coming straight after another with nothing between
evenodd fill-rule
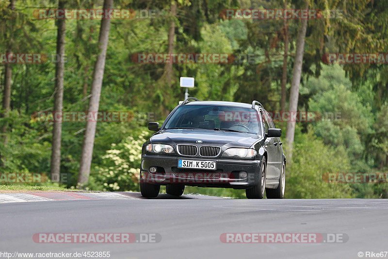
<instances>
[{"instance_id":1,"label":"tall leaning tree trunk rising behind the car's right side","mask_svg":"<svg viewBox=\"0 0 388 259\"><path fill-rule=\"evenodd\" d=\"M308 8L308 4L306 3L306 7ZM292 115L296 114L298 109L298 98L299 98L299 85L300 78L302 74L302 65L303 65L303 54L305 50L305 38L306 38L306 30L307 30L307 19L302 19L298 37L296 39L296 53L295 53L295 63L292 71L292 82L291 82L291 91L290 91L290 121L287 122L287 133L286 133L286 141L287 141L287 161L292 161L292 149L294 142L294 134L295 134L295 118ZM293 119L292 119L293 118Z\"/></svg>"}]
</instances>

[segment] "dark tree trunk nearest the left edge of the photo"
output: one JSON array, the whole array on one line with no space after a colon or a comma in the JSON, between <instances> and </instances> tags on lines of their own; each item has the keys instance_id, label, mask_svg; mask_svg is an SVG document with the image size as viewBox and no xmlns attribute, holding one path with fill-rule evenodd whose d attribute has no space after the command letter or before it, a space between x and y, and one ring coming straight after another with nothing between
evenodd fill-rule
<instances>
[{"instance_id":1,"label":"dark tree trunk nearest the left edge of the photo","mask_svg":"<svg viewBox=\"0 0 388 259\"><path fill-rule=\"evenodd\" d=\"M11 10L15 10L15 2L16 0L11 0L8 8ZM12 34L11 34L12 35ZM7 55L12 54L12 37L8 39L7 42ZM12 65L9 63L6 63L4 66L4 93L3 93L3 118L7 119L9 117L9 111L11 109L11 86L12 86ZM7 136L7 129L8 129L8 122L5 122L1 132L3 134L3 144L4 146L8 143L8 136Z\"/></svg>"}]
</instances>

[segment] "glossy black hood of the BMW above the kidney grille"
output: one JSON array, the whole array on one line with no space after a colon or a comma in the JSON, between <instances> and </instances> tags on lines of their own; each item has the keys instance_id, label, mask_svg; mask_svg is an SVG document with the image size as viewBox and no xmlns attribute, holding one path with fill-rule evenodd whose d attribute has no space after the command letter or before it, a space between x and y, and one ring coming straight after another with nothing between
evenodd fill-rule
<instances>
[{"instance_id":1,"label":"glossy black hood of the BMW above the kidney grille","mask_svg":"<svg viewBox=\"0 0 388 259\"><path fill-rule=\"evenodd\" d=\"M196 129L168 129L157 132L150 138L151 143L165 144L196 144L195 141L202 140L201 145L213 145L222 147L250 147L257 142L261 136L215 130Z\"/></svg>"}]
</instances>

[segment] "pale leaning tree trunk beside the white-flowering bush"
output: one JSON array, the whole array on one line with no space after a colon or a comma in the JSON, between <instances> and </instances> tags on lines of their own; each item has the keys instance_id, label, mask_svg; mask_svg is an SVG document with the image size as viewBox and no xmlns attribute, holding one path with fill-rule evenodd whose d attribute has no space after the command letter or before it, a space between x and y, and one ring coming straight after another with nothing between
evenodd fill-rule
<instances>
[{"instance_id":1,"label":"pale leaning tree trunk beside the white-flowering bush","mask_svg":"<svg viewBox=\"0 0 388 259\"><path fill-rule=\"evenodd\" d=\"M104 7L103 7L104 12L107 9L112 9L112 5L113 5L113 0L104 0ZM110 25L111 25L111 20L109 18L101 20L101 28L100 28L99 38L98 38L99 53L97 56L97 61L93 72L93 83L92 83L91 97L89 100L89 109L88 109L88 112L94 115L97 114L98 112L98 106L100 101L101 86L102 86L102 79L104 77L105 58L106 58L106 50L108 47ZM83 139L83 145L82 145L80 173L78 176L78 183L81 185L87 184L89 180L90 167L92 164L94 138L96 135L96 126L97 126L97 121L90 120L86 122L85 137ZM82 186L80 186L80 188L81 187Z\"/></svg>"}]
</instances>

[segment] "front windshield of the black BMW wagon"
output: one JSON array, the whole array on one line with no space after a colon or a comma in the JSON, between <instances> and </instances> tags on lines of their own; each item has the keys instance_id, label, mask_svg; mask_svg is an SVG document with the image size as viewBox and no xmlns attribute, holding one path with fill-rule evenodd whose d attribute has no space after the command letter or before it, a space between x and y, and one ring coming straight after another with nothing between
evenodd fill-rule
<instances>
[{"instance_id":1,"label":"front windshield of the black BMW wagon","mask_svg":"<svg viewBox=\"0 0 388 259\"><path fill-rule=\"evenodd\" d=\"M228 130L261 135L258 113L251 108L216 105L182 105L164 129Z\"/></svg>"}]
</instances>

